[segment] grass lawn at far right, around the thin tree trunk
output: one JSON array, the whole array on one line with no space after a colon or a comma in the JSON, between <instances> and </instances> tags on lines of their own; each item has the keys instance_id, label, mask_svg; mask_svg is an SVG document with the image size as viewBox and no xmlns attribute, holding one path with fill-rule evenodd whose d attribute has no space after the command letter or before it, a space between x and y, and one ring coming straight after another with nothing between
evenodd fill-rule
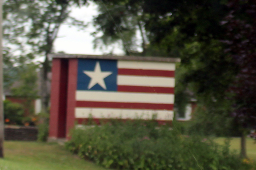
<instances>
[{"instance_id":1,"label":"grass lawn at far right, around the thin tree trunk","mask_svg":"<svg viewBox=\"0 0 256 170\"><path fill-rule=\"evenodd\" d=\"M225 138L216 138L215 142L217 142L219 144L224 144L224 140L225 140ZM241 143L240 138L232 138L231 141L230 141L230 149L236 150L237 153L239 154L240 148L241 148L240 143ZM253 140L252 138L247 138L246 139L246 150L247 150L247 156L250 159L256 160L256 143L255 143L255 140Z\"/></svg>"}]
</instances>

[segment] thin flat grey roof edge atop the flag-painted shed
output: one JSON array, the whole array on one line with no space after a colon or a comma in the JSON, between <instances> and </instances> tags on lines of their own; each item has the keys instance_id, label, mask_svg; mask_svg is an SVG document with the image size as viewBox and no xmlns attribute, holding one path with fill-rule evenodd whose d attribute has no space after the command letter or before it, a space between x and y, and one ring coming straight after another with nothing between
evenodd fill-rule
<instances>
[{"instance_id":1,"label":"thin flat grey roof edge atop the flag-painted shed","mask_svg":"<svg viewBox=\"0 0 256 170\"><path fill-rule=\"evenodd\" d=\"M138 57L138 56L113 56L113 55L84 55L84 54L49 54L52 58L84 58L84 59L119 59L130 61L152 61L152 62L180 62L179 58L171 57Z\"/></svg>"}]
</instances>

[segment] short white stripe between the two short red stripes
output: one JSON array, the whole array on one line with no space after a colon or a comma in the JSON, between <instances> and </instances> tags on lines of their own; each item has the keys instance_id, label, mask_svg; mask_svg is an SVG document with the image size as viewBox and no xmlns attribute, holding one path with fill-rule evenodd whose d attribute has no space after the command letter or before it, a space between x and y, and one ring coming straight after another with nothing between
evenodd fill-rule
<instances>
[{"instance_id":1,"label":"short white stripe between the two short red stripes","mask_svg":"<svg viewBox=\"0 0 256 170\"><path fill-rule=\"evenodd\" d=\"M145 76L117 76L117 85L175 87L175 78L172 77L145 77Z\"/></svg>"}]
</instances>

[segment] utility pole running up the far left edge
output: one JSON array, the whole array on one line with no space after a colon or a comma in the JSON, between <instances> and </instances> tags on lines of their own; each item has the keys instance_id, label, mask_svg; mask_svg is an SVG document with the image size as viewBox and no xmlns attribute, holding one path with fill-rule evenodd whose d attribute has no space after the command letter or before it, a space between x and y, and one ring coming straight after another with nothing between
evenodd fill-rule
<instances>
[{"instance_id":1,"label":"utility pole running up the far left edge","mask_svg":"<svg viewBox=\"0 0 256 170\"><path fill-rule=\"evenodd\" d=\"M0 158L3 158L4 117L3 117L3 0L0 0Z\"/></svg>"}]
</instances>

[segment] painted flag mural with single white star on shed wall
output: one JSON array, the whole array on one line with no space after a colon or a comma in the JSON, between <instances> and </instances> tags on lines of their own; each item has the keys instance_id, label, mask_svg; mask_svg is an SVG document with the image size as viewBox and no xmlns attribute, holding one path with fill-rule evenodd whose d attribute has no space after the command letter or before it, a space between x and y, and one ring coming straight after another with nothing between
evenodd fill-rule
<instances>
[{"instance_id":1,"label":"painted flag mural with single white star on shed wall","mask_svg":"<svg viewBox=\"0 0 256 170\"><path fill-rule=\"evenodd\" d=\"M75 118L173 119L175 63L78 59Z\"/></svg>"}]
</instances>

